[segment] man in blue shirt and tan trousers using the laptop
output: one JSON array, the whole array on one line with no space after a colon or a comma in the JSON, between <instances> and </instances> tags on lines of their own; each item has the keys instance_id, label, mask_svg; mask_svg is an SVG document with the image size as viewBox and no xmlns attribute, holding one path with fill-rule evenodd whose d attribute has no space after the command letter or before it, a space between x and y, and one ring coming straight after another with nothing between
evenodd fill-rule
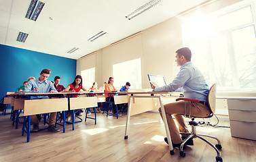
<instances>
[{"instance_id":1,"label":"man in blue shirt and tan trousers using the laptop","mask_svg":"<svg viewBox=\"0 0 256 162\"><path fill-rule=\"evenodd\" d=\"M208 95L208 85L204 76L201 72L191 63L191 51L189 48L184 47L176 51L176 62L178 66L181 66L181 70L177 74L176 78L168 85L156 87L152 84L153 90L156 92L173 92L178 88L181 88L184 97L189 99L198 99L199 103L191 103L191 116L197 117L207 117L211 111L207 103ZM185 110L186 104L186 110ZM172 139L172 145L174 147L180 147L181 143L187 135L180 136L179 132L189 132L185 124L183 115L189 115L189 102L179 101L175 103L168 103L164 105L164 110L166 113L166 119L168 123L168 128L170 131L170 137ZM161 108L159 109L160 115L162 117ZM179 130L175 125L175 121L172 119L174 115ZM167 138L164 138L165 142L168 144ZM187 145L194 145L193 139L186 142Z\"/></svg>"}]
</instances>

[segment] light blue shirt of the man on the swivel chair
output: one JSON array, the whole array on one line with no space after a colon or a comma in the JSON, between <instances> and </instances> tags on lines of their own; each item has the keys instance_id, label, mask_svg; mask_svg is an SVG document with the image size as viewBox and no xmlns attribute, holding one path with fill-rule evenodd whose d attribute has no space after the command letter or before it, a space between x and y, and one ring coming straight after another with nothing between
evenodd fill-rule
<instances>
[{"instance_id":1,"label":"light blue shirt of the man on the swivel chair","mask_svg":"<svg viewBox=\"0 0 256 162\"><path fill-rule=\"evenodd\" d=\"M181 88L185 98L207 102L208 85L202 73L191 63L184 63L176 78L168 85L155 88L156 92L173 92Z\"/></svg>"}]
</instances>

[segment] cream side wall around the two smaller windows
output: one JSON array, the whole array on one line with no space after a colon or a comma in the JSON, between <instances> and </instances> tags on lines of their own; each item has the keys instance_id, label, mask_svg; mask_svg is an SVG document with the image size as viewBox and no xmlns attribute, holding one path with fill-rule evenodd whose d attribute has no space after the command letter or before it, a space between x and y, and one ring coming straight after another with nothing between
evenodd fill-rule
<instances>
[{"instance_id":1,"label":"cream side wall around the two smaller windows","mask_svg":"<svg viewBox=\"0 0 256 162\"><path fill-rule=\"evenodd\" d=\"M175 51L183 47L181 26L184 20L197 14L210 14L241 0L217 0L205 3L197 9L191 9L179 16L170 18L156 26L143 30L141 34L96 51L96 53L77 60L77 74L86 68L96 68L96 82L102 86L109 76L113 76L113 64L141 57L142 87L150 88L147 74L165 76L166 82L175 77L173 65ZM193 53L193 51L192 51Z\"/></svg>"}]
</instances>

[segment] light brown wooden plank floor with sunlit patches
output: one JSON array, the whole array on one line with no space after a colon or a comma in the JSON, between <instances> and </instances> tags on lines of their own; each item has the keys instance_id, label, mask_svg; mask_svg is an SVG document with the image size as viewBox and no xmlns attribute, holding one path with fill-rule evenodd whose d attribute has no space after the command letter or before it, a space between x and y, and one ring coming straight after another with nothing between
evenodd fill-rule
<instances>
[{"instance_id":1,"label":"light brown wooden plank floor with sunlit patches","mask_svg":"<svg viewBox=\"0 0 256 162\"><path fill-rule=\"evenodd\" d=\"M164 125L158 113L142 113L130 119L128 139L124 140L126 115L119 119L98 114L92 119L67 125L66 132L47 130L31 134L31 142L21 136L22 124L16 130L10 115L0 115L0 161L215 161L216 152L205 142L194 139L194 146L186 148L186 157L170 155L164 142ZM213 124L215 119L211 121ZM222 121L219 126L228 126ZM40 123L40 128L43 124ZM45 126L46 127L46 126ZM223 161L256 161L256 141L232 138L230 128L197 127L199 133L218 137L223 146ZM210 140L211 142L216 142Z\"/></svg>"}]
</instances>

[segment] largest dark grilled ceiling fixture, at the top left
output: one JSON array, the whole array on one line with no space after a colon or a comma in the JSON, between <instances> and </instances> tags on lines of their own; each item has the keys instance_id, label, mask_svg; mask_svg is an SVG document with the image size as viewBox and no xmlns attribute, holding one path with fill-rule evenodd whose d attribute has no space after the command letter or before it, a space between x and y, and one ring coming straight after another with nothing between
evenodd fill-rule
<instances>
[{"instance_id":1,"label":"largest dark grilled ceiling fixture, at the top left","mask_svg":"<svg viewBox=\"0 0 256 162\"><path fill-rule=\"evenodd\" d=\"M28 11L26 11L25 18L36 21L44 4L45 3L41 1L31 0L31 4L29 5Z\"/></svg>"}]
</instances>

